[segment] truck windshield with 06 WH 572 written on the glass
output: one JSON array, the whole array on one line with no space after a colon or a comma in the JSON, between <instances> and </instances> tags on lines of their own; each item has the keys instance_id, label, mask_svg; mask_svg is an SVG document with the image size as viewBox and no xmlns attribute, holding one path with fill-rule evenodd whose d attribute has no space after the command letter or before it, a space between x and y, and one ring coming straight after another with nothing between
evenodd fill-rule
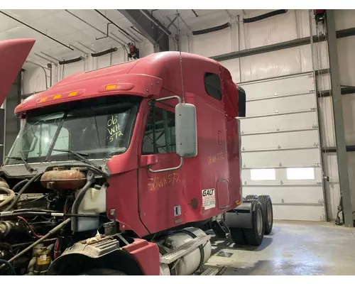
<instances>
[{"instance_id":1,"label":"truck windshield with 06 WH 572 written on the glass","mask_svg":"<svg viewBox=\"0 0 355 284\"><path fill-rule=\"evenodd\" d=\"M87 159L110 158L129 147L138 112L137 102L106 102L72 107L26 118L9 157L28 163L72 160L75 151ZM62 151L55 151L62 150ZM7 165L23 163L8 158Z\"/></svg>"}]
</instances>

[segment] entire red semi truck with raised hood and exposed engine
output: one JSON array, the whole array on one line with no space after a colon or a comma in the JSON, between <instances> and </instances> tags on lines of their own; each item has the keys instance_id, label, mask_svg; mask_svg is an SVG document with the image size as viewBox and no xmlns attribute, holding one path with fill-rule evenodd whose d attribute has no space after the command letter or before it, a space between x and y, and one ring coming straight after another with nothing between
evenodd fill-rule
<instances>
[{"instance_id":1,"label":"entire red semi truck with raised hood and exposed engine","mask_svg":"<svg viewBox=\"0 0 355 284\"><path fill-rule=\"evenodd\" d=\"M4 102L34 40L0 43ZM189 53L80 72L14 110L0 168L2 275L215 275L213 231L259 246L268 195L242 198L246 94Z\"/></svg>"}]
</instances>

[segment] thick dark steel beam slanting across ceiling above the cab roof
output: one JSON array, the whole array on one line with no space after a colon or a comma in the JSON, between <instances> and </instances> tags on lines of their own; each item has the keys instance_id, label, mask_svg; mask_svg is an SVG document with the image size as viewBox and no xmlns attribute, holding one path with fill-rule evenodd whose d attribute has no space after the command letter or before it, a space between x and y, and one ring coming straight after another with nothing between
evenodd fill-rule
<instances>
[{"instance_id":1,"label":"thick dark steel beam slanting across ceiling above the cab roof","mask_svg":"<svg viewBox=\"0 0 355 284\"><path fill-rule=\"evenodd\" d=\"M141 10L119 10L127 20L154 46L154 52L168 51L170 31L156 20L148 11ZM146 16L148 13L149 17Z\"/></svg>"}]
</instances>

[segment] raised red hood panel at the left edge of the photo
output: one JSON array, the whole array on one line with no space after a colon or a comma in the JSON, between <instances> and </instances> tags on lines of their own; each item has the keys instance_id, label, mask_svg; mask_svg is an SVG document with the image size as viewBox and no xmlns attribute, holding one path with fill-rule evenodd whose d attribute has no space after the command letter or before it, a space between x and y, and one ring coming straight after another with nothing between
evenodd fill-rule
<instances>
[{"instance_id":1,"label":"raised red hood panel at the left edge of the photo","mask_svg":"<svg viewBox=\"0 0 355 284\"><path fill-rule=\"evenodd\" d=\"M35 40L27 38L0 41L0 104L4 103L34 44Z\"/></svg>"}]
</instances>

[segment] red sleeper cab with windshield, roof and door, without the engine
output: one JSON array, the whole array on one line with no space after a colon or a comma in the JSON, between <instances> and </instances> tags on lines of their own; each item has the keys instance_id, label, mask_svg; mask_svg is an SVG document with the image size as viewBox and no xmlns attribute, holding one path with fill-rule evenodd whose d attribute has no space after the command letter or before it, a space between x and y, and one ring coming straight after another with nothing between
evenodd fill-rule
<instances>
[{"instance_id":1,"label":"red sleeper cab with windshield, roof and door, without the engine","mask_svg":"<svg viewBox=\"0 0 355 284\"><path fill-rule=\"evenodd\" d=\"M15 109L27 123L9 155L31 140L36 125L39 141L27 156L28 163L38 164L33 167L72 158L55 150L86 154L110 173L107 212L115 209L120 229L141 237L236 207L241 201L236 85L214 60L188 53L181 58L184 94L180 54L166 52L72 75L29 97ZM152 173L180 164L178 99L151 104L176 96L196 107L198 153L184 158L180 168ZM20 174L13 167L19 163L7 160L4 170Z\"/></svg>"}]
</instances>

